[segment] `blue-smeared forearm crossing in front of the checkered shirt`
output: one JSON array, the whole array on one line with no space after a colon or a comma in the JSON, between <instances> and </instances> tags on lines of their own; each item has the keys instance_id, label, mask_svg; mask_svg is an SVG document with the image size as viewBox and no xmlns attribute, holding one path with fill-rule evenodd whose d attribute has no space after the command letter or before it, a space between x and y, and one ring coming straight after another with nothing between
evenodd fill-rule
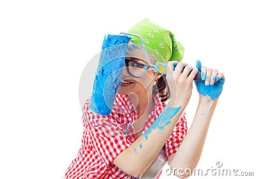
<instances>
[{"instance_id":1,"label":"blue-smeared forearm crossing in front of the checkered shirt","mask_svg":"<svg viewBox=\"0 0 256 179\"><path fill-rule=\"evenodd\" d=\"M118 155L113 163L129 175L140 176L159 154L183 110L183 108L179 108L172 114L168 113L170 111L164 110L166 113L163 111L154 124L129 148ZM170 118L170 115L173 117Z\"/></svg>"}]
</instances>

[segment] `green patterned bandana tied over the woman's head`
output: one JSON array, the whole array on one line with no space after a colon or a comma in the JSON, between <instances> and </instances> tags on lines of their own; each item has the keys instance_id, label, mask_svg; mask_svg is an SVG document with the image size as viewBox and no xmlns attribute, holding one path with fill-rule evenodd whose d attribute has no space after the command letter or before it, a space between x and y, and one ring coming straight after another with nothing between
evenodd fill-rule
<instances>
[{"instance_id":1,"label":"green patterned bandana tied over the woman's head","mask_svg":"<svg viewBox=\"0 0 256 179\"><path fill-rule=\"evenodd\" d=\"M129 33L138 34L148 53L154 56L157 62L181 61L184 47L176 41L172 32L145 18L129 29ZM131 36L131 42L141 45L140 38Z\"/></svg>"}]
</instances>

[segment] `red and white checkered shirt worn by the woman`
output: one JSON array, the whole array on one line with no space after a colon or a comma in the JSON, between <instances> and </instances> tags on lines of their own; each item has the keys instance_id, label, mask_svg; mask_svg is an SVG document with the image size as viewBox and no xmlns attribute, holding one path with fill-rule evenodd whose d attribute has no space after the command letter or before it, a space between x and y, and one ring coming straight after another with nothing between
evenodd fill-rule
<instances>
[{"instance_id":1,"label":"red and white checkered shirt worn by the woman","mask_svg":"<svg viewBox=\"0 0 256 179\"><path fill-rule=\"evenodd\" d=\"M142 134L164 110L165 104L160 101L158 95L154 96L154 101ZM116 94L113 109L110 115L106 116L90 111L89 103L90 99L87 99L83 105L84 130L81 148L68 167L65 178L134 178L112 163L115 157L136 140L134 128L129 127L137 117L133 104L127 96ZM187 122L183 113L165 143L166 157L175 154L186 133Z\"/></svg>"}]
</instances>

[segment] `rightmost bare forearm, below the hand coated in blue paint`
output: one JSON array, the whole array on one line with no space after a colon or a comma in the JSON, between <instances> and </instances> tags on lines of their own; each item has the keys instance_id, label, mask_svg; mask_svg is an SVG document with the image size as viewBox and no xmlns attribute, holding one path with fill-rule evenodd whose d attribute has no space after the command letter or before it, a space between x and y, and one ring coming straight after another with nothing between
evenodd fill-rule
<instances>
[{"instance_id":1,"label":"rightmost bare forearm, below the hand coated in blue paint","mask_svg":"<svg viewBox=\"0 0 256 179\"><path fill-rule=\"evenodd\" d=\"M205 138L216 104L217 100L207 101L207 99L200 97L195 118L186 138L182 141L175 156L169 158L169 164L172 166L172 169L195 169L202 154Z\"/></svg>"}]
</instances>

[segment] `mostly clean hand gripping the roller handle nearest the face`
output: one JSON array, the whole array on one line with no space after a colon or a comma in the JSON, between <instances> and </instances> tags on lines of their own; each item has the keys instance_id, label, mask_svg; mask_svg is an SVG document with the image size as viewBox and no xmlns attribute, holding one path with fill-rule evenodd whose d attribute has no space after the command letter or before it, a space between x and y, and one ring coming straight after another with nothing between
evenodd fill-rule
<instances>
[{"instance_id":1,"label":"mostly clean hand gripping the roller handle nearest the face","mask_svg":"<svg viewBox=\"0 0 256 179\"><path fill-rule=\"evenodd\" d=\"M177 66L174 68L174 66ZM183 70L183 71L182 71ZM170 105L185 108L192 93L193 79L197 68L185 62L170 61L166 69L166 80L171 93Z\"/></svg>"}]
</instances>

